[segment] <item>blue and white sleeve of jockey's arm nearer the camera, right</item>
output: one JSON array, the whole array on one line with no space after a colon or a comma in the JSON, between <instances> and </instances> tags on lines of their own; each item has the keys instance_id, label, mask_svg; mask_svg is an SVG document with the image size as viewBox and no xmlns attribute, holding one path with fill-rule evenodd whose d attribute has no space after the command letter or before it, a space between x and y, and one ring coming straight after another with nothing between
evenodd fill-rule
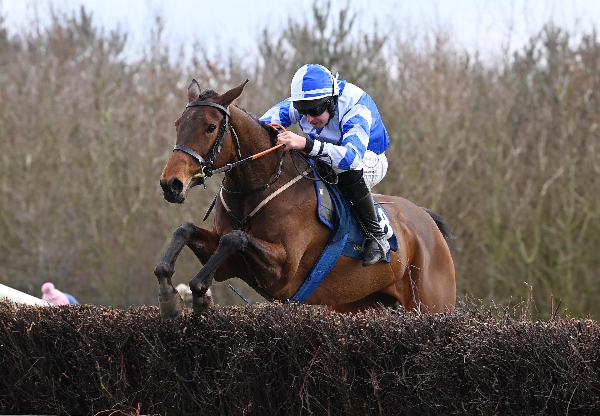
<instances>
[{"instance_id":1,"label":"blue and white sleeve of jockey's arm nearer the camera, right","mask_svg":"<svg viewBox=\"0 0 600 416\"><path fill-rule=\"evenodd\" d=\"M342 170L358 168L367 150L372 121L371 110L363 104L356 104L340 122L342 133L340 145L315 139L310 155L319 154L319 149L323 146L322 153L331 156L333 167ZM325 158L323 161L327 161L327 159Z\"/></svg>"}]
</instances>

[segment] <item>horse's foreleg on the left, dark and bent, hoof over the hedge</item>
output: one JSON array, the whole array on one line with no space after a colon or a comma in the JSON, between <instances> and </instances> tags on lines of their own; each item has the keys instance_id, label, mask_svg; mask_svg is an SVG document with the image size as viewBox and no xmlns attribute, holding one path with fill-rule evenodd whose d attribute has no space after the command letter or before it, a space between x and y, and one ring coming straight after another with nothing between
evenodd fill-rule
<instances>
[{"instance_id":1,"label":"horse's foreleg on the left, dark and bent, hoof over the hedge","mask_svg":"<svg viewBox=\"0 0 600 416\"><path fill-rule=\"evenodd\" d=\"M175 318L183 309L181 296L171 283L175 273L175 261L184 246L190 246L196 255L197 252L207 251L211 245L216 246L217 235L212 231L198 228L192 223L183 223L173 232L173 239L169 243L163 258L154 268L158 279L160 291L158 292L158 307L163 318ZM210 254L206 255L208 259Z\"/></svg>"}]
</instances>

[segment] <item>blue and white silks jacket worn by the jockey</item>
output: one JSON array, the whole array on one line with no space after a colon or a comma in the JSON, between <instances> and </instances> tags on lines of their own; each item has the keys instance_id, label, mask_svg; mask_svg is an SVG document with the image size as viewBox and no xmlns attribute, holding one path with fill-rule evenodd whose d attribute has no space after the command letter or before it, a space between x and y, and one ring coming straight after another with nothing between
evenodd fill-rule
<instances>
[{"instance_id":1,"label":"blue and white silks jacket worn by the jockey","mask_svg":"<svg viewBox=\"0 0 600 416\"><path fill-rule=\"evenodd\" d=\"M302 131L314 140L313 149L310 151L311 156L319 153L323 143L323 153L331 156L334 168L362 169L362 158L367 149L379 155L388 148L388 131L385 130L377 106L366 92L343 79L337 80L335 84L339 89L337 110L328 124L319 130L315 130L305 116L298 113L292 104L292 97L275 104L260 118L260 121L267 124L278 123L284 127L299 123ZM304 91L304 94L307 91ZM321 97L327 95L331 95L331 89L328 94ZM328 158L322 160L329 161Z\"/></svg>"}]
</instances>

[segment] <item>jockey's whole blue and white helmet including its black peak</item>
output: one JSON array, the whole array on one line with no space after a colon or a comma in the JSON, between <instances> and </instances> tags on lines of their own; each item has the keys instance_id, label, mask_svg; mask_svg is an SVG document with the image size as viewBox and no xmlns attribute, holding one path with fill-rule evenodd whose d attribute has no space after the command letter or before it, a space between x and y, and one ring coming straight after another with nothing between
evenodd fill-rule
<instances>
[{"instance_id":1,"label":"jockey's whole blue and white helmet including its black peak","mask_svg":"<svg viewBox=\"0 0 600 416\"><path fill-rule=\"evenodd\" d=\"M331 108L335 109L337 95L340 94L337 78L337 73L334 77L323 65L302 65L292 78L290 91L290 100L296 110L312 109L329 99L331 99L330 103L333 104ZM330 110L329 113L332 113L332 111Z\"/></svg>"}]
</instances>

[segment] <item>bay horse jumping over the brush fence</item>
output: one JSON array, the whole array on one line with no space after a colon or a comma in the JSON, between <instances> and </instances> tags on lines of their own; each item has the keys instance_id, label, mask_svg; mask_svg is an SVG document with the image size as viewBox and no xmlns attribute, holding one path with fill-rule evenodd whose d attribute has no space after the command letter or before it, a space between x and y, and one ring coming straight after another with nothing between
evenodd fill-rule
<instances>
[{"instance_id":1,"label":"bay horse jumping over the brush fence","mask_svg":"<svg viewBox=\"0 0 600 416\"><path fill-rule=\"evenodd\" d=\"M171 277L184 246L190 247L203 265L190 281L193 310L202 313L213 305L207 294L213 279L223 282L239 277L272 298L290 299L328 241L331 231L317 219L314 184L300 178L290 185L298 171L291 157L284 157L285 149L242 163L248 155L265 151L277 142L274 128L231 105L247 82L218 94L202 91L193 80L187 90L187 107L175 121L175 149L160 177L164 199L185 202L190 188L203 183L203 174L212 170L226 172L223 188L231 193L221 191L222 196L215 197L211 230L186 222L173 233L154 269L160 283L158 301L163 318L174 318L182 312L181 297ZM307 166L304 163L300 169ZM286 185L289 188L281 191ZM251 211L276 193L247 219ZM305 304L339 312L398 302L419 313L454 310L454 263L445 221L439 214L401 197L375 194L374 199L393 202L386 205L386 210L399 247L391 252L391 262L362 267L362 259L342 255ZM245 218L247 222L237 222L236 226L235 219Z\"/></svg>"}]
</instances>

